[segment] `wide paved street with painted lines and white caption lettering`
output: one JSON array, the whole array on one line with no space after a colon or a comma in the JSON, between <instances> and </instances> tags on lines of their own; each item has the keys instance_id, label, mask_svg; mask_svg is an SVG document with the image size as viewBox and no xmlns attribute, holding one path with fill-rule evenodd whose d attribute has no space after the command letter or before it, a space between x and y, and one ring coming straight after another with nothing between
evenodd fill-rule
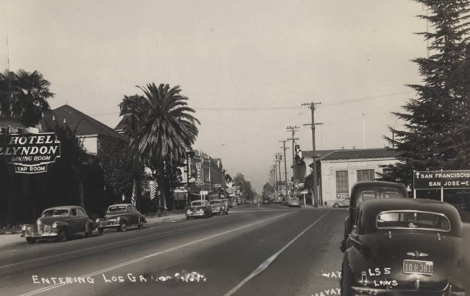
<instances>
[{"instance_id":1,"label":"wide paved street with painted lines and white caption lettering","mask_svg":"<svg viewBox=\"0 0 470 296\"><path fill-rule=\"evenodd\" d=\"M229 215L3 248L0 295L338 295L345 215L245 205Z\"/></svg>"}]
</instances>

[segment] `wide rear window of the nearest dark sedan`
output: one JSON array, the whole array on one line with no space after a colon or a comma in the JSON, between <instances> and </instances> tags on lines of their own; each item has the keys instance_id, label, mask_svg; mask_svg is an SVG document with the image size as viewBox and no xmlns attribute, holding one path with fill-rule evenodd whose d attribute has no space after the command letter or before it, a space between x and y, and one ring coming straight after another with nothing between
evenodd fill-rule
<instances>
[{"instance_id":1,"label":"wide rear window of the nearest dark sedan","mask_svg":"<svg viewBox=\"0 0 470 296\"><path fill-rule=\"evenodd\" d=\"M441 213L425 211L386 211L377 215L378 229L425 229L450 231L449 219Z\"/></svg>"}]
</instances>

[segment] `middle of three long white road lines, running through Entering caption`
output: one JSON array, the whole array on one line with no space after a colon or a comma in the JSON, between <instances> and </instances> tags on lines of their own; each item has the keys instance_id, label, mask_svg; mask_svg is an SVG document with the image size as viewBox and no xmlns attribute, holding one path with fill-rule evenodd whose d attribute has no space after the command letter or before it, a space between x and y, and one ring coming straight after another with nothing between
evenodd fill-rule
<instances>
[{"instance_id":1,"label":"middle of three long white road lines, running through Entering caption","mask_svg":"<svg viewBox=\"0 0 470 296\"><path fill-rule=\"evenodd\" d=\"M92 273L82 275L80 277L81 278L92 277L92 276L98 275L98 274L103 273L103 272L108 272L110 270L113 270L113 269L116 269L116 268L119 268L119 267L123 267L123 266L129 265L129 264L137 263L139 261L142 261L144 259L147 259L147 258L150 258L150 257L153 257L153 256L157 256L157 255L165 254L165 253L175 251L175 250L178 250L178 249L181 249L181 248L185 248L185 247L188 247L190 245L194 245L194 244L197 244L197 243L200 243L200 242L203 242L203 241L207 241L207 240L216 238L218 236L221 236L221 235L224 235L224 234L227 234L227 233L231 233L231 232L234 232L234 231L237 231L237 230L240 230L240 229L243 229L243 228L247 228L247 227L259 224L259 223L263 223L263 222L266 222L266 221L269 221L269 220L277 219L277 218L280 218L280 217L288 215L288 214L290 214L290 213L285 213L285 214L282 214L282 215L279 215L279 216L275 216L275 217L271 217L271 218L264 219L264 220L261 220L261 221L257 221L257 222L254 222L254 223L250 223L250 224L240 226L240 227L237 227L237 228L234 228L234 229L231 229L231 230L227 230L227 231L224 231L224 232L221 232L221 233L218 233L218 234L214 234L214 235L211 235L211 236L206 236L206 237L203 237L201 239L198 239L198 240L195 240L195 241L183 244L183 245L175 246L175 247L172 247L170 249L166 249L166 250L163 250L163 251L160 251L160 252L157 252L157 253L149 254L149 255L146 255L146 256L143 256L143 257L139 257L139 258L136 258L134 260L123 262L123 263L118 264L118 265L114 265L114 266L110 266L110 267L107 267L107 268L104 268L104 269L101 269L101 270L97 270L97 271L94 271ZM49 287L45 287L45 288L42 288L42 289L38 289L38 290L34 290L34 291L31 291L31 292L22 294L20 296L35 295L35 294L43 293L43 292L46 292L46 291L49 291L49 290L52 290L52 289L55 289L55 288L59 288L59 287L65 286L65 285L67 285L67 283L55 284L55 285L52 285L52 286L49 286Z\"/></svg>"}]
</instances>

